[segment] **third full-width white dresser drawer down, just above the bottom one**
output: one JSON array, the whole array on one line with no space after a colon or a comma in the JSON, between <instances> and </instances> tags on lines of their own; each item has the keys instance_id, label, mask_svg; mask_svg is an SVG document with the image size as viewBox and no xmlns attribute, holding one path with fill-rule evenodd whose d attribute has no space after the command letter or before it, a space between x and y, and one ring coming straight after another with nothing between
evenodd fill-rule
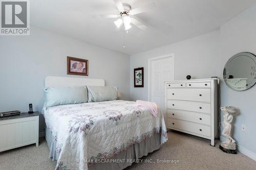
<instances>
[{"instance_id":1,"label":"third full-width white dresser drawer down, just above the bottom one","mask_svg":"<svg viewBox=\"0 0 256 170\"><path fill-rule=\"evenodd\" d=\"M167 110L168 118L177 118L182 120L187 120L190 122L195 122L204 125L210 125L210 115L201 114L196 112L181 111L181 110Z\"/></svg>"}]
</instances>

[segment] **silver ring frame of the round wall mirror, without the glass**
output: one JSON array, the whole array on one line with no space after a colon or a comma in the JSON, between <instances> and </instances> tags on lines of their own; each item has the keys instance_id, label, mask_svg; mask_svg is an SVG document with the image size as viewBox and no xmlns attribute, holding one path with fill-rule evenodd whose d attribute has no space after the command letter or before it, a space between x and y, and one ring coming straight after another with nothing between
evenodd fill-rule
<instances>
[{"instance_id":1,"label":"silver ring frame of the round wall mirror, without the glass","mask_svg":"<svg viewBox=\"0 0 256 170\"><path fill-rule=\"evenodd\" d=\"M225 67L224 67L224 70L223 70L223 79L224 79L224 82L226 83L226 85L227 85L229 88L231 88L232 90L244 91L244 90L248 90L249 88L251 88L252 86L254 86L254 85L256 84L256 75L255 75L254 80L253 80L250 84L247 85L246 89L234 88L234 87L230 86L230 85L228 84L228 82L226 81L226 79L225 79L225 76L226 76L226 75L225 75L226 67L228 66L228 64L229 64L234 58L237 58L237 57L239 57L239 56L250 57L250 58L254 61L255 66L256 66L256 56L255 56L254 54L249 53L249 52L238 53L238 54L232 56L232 57L231 57L230 59L228 59L228 61L226 62ZM255 72L255 74L256 74L256 72Z\"/></svg>"}]
</instances>

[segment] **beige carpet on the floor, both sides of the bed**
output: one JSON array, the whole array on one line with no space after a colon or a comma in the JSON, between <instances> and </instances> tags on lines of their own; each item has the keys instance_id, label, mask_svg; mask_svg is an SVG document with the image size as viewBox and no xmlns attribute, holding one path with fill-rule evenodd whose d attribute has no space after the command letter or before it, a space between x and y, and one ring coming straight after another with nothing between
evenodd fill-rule
<instances>
[{"instance_id":1,"label":"beige carpet on the floor, both sides of the bed","mask_svg":"<svg viewBox=\"0 0 256 170\"><path fill-rule=\"evenodd\" d=\"M218 142L219 143L219 142ZM256 169L256 162L238 153L226 154L218 147L211 147L209 140L170 131L168 142L151 154L141 158L152 162L180 160L179 163L134 163L127 169ZM48 158L49 149L44 139L39 147L29 145L0 153L0 169L54 169L56 161Z\"/></svg>"}]
</instances>

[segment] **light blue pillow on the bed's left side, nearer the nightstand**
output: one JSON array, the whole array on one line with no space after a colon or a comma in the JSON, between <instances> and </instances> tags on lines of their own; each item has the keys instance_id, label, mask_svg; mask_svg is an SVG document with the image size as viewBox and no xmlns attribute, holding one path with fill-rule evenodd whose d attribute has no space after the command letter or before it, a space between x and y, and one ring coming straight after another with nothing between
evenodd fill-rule
<instances>
[{"instance_id":1,"label":"light blue pillow on the bed's left side, nearer the nightstand","mask_svg":"<svg viewBox=\"0 0 256 170\"><path fill-rule=\"evenodd\" d=\"M88 102L86 86L80 87L45 87L46 109L58 106Z\"/></svg>"}]
</instances>

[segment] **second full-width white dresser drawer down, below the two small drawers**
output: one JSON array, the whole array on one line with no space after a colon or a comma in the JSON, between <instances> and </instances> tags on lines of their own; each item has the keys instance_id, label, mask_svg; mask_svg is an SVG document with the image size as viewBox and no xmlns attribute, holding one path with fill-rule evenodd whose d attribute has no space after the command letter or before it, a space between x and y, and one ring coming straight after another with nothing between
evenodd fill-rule
<instances>
[{"instance_id":1,"label":"second full-width white dresser drawer down, below the two small drawers","mask_svg":"<svg viewBox=\"0 0 256 170\"><path fill-rule=\"evenodd\" d=\"M210 114L210 103L168 100L167 108Z\"/></svg>"}]
</instances>

